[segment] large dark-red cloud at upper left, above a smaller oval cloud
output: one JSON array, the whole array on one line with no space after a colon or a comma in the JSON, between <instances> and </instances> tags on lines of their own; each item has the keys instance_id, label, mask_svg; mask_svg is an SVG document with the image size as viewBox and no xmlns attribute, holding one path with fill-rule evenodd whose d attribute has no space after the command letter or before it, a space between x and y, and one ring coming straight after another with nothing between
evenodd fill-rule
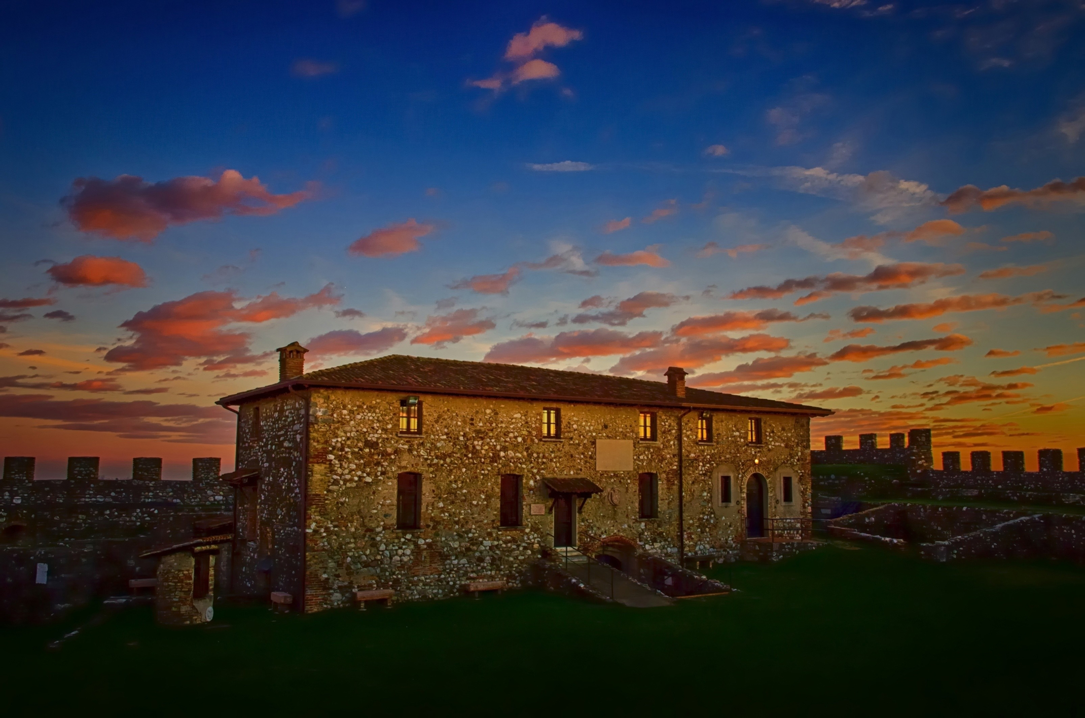
<instances>
[{"instance_id":1,"label":"large dark-red cloud at upper left, above a smaller oval cloud","mask_svg":"<svg viewBox=\"0 0 1085 718\"><path fill-rule=\"evenodd\" d=\"M151 242L170 226L226 215L273 215L312 198L315 187L272 194L259 179L246 180L235 169L225 170L217 180L175 177L154 184L132 175L113 180L80 177L61 203L82 232Z\"/></svg>"}]
</instances>

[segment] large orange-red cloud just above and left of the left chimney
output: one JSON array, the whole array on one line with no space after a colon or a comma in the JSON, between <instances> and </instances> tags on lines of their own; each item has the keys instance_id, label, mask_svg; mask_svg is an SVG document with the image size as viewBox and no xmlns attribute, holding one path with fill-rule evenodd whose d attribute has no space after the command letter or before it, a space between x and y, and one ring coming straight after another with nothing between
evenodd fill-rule
<instances>
[{"instance_id":1,"label":"large orange-red cloud just above and left of the left chimney","mask_svg":"<svg viewBox=\"0 0 1085 718\"><path fill-rule=\"evenodd\" d=\"M260 323L293 316L305 309L337 304L332 285L306 297L280 297L276 293L256 297L237 307L237 293L197 292L182 299L164 302L136 312L120 324L136 335L131 344L116 346L104 359L125 364L125 371L179 367L189 358L206 358L204 371L218 371L264 359L248 352L250 335L230 328L233 322Z\"/></svg>"}]
</instances>

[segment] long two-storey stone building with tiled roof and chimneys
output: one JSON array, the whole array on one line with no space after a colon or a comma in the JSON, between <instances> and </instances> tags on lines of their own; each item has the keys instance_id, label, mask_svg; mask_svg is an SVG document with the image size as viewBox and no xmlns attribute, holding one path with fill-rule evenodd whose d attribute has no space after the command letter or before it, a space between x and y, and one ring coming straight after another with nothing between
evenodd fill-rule
<instances>
[{"instance_id":1,"label":"long two-storey stone building with tiled roof and chimneys","mask_svg":"<svg viewBox=\"0 0 1085 718\"><path fill-rule=\"evenodd\" d=\"M611 541L728 559L810 510L809 420L667 382L387 356L218 401L238 412L233 590L307 612L353 592L522 585L542 552ZM680 427L680 432L679 432Z\"/></svg>"}]
</instances>

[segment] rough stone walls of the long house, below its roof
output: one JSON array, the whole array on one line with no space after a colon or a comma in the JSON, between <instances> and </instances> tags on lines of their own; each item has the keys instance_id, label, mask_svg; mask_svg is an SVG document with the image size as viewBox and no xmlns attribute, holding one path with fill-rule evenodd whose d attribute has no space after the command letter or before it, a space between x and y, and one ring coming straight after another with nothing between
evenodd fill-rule
<instances>
[{"instance_id":1,"label":"rough stone walls of the long house, below its roof","mask_svg":"<svg viewBox=\"0 0 1085 718\"><path fill-rule=\"evenodd\" d=\"M304 416L298 412L304 407L303 394L259 402L263 432L268 432L269 415L279 418L277 438L268 439L263 448L250 435L253 407L241 408L239 465L267 456L260 451L278 452L271 461L276 478L260 479L259 530L272 518L264 501L275 503L277 517L292 518L291 507L301 505L294 493L299 483L288 473L294 462L303 460L303 452L294 448L304 432ZM541 549L552 542L553 515L531 510L532 504L550 507L544 477L586 477L603 489L601 496L586 501L576 517L582 539L621 535L660 555L676 555L679 411L660 410L659 440L647 443L636 441L636 407L421 395L423 435L413 437L398 433L403 397L397 394L326 388L308 394L306 592L302 602L306 611L346 604L355 590L392 588L397 599L410 600L454 595L469 580L503 579L520 585ZM544 407L562 410L560 440L539 436ZM745 479L752 473L760 472L767 479L769 516L809 516L809 420L754 414L763 416L765 441L751 446L745 440L751 414L712 413L712 444L697 441L698 412L684 421L686 551L689 555L736 555L744 535ZM634 470L597 471L596 439L633 441ZM261 475L264 471L261 466ZM422 475L420 529L396 528L396 486L401 472ZM659 475L658 518L639 518L640 472ZM501 474L523 477L522 527L498 525ZM720 474L733 476L729 503L719 500L714 479ZM790 504L781 501L783 475L795 482ZM279 526L288 528L289 521ZM277 536L277 567L289 561L288 546ZM285 585L278 590L298 594Z\"/></svg>"}]
</instances>

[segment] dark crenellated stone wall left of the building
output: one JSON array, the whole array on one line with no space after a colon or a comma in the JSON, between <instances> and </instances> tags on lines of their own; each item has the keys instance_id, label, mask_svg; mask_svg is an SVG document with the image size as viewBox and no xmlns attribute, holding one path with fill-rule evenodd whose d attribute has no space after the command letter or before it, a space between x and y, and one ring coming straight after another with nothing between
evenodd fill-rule
<instances>
[{"instance_id":1,"label":"dark crenellated stone wall left of the building","mask_svg":"<svg viewBox=\"0 0 1085 718\"><path fill-rule=\"evenodd\" d=\"M127 593L130 578L154 576L154 560L140 553L191 537L197 521L232 512L218 458L193 459L192 480L157 480L161 470L153 469L161 460L149 458L133 463L144 478L102 480L97 457L75 459L66 479L36 479L33 457L4 459L0 620L47 619ZM48 566L43 585L36 582L39 563Z\"/></svg>"}]
</instances>

